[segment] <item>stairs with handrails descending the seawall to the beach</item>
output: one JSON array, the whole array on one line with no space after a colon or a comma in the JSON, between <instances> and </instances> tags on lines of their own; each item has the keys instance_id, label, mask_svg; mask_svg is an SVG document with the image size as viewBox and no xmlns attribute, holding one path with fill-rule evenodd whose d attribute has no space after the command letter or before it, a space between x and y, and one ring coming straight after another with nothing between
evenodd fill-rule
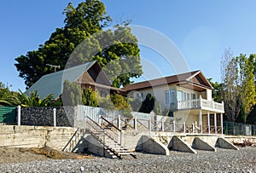
<instances>
[{"instance_id":1,"label":"stairs with handrails descending the seawall to the beach","mask_svg":"<svg viewBox=\"0 0 256 173\"><path fill-rule=\"evenodd\" d=\"M105 122L102 126L97 124L91 118L87 117L86 120L86 130L91 136L94 136L97 141L99 141L104 147L105 151L115 159L123 159L124 156L131 155L131 157L137 159L137 156L132 153L122 143L122 132L113 124L108 122L107 119L102 118Z\"/></svg>"}]
</instances>

